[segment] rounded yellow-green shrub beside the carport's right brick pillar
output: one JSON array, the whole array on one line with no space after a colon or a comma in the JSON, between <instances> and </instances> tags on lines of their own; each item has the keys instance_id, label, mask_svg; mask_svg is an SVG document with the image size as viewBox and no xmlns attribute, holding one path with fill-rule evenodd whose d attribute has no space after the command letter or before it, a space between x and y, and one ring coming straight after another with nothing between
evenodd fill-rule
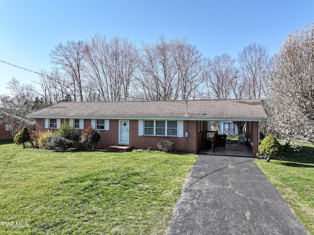
<instances>
[{"instance_id":1,"label":"rounded yellow-green shrub beside the carport's right brick pillar","mask_svg":"<svg viewBox=\"0 0 314 235\"><path fill-rule=\"evenodd\" d=\"M267 135L260 144L260 154L270 160L270 157L275 157L281 150L281 144L277 139L270 135Z\"/></svg>"}]
</instances>

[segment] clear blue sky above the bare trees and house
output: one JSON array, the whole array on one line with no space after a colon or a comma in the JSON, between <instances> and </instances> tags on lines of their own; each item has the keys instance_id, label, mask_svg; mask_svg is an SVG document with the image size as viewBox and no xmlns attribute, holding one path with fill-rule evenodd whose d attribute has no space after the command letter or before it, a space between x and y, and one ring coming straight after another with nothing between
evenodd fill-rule
<instances>
[{"instance_id":1,"label":"clear blue sky above the bare trees and house","mask_svg":"<svg viewBox=\"0 0 314 235\"><path fill-rule=\"evenodd\" d=\"M187 37L206 57L237 53L251 42L273 55L296 27L314 22L313 0L0 0L0 60L50 71L59 43L97 33L136 44ZM0 80L38 81L0 62ZM7 93L5 85L0 94Z\"/></svg>"}]
</instances>

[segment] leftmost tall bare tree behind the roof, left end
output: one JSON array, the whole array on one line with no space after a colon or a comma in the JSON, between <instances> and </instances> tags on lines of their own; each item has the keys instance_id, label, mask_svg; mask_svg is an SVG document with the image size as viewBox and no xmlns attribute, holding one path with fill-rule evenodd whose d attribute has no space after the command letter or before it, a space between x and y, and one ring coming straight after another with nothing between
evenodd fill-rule
<instances>
[{"instance_id":1,"label":"leftmost tall bare tree behind the roof, left end","mask_svg":"<svg viewBox=\"0 0 314 235\"><path fill-rule=\"evenodd\" d=\"M83 101L84 42L68 41L66 45L60 43L54 47L50 56L52 63L60 65L71 78L75 101L77 98Z\"/></svg>"}]
</instances>

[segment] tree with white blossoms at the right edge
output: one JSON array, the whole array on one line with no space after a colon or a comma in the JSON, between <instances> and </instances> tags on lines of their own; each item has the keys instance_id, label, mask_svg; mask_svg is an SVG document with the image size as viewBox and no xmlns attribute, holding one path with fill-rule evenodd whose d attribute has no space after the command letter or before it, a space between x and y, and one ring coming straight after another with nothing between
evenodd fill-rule
<instances>
[{"instance_id":1,"label":"tree with white blossoms at the right edge","mask_svg":"<svg viewBox=\"0 0 314 235\"><path fill-rule=\"evenodd\" d=\"M274 57L271 81L277 133L288 142L314 142L314 25L285 39Z\"/></svg>"}]
</instances>

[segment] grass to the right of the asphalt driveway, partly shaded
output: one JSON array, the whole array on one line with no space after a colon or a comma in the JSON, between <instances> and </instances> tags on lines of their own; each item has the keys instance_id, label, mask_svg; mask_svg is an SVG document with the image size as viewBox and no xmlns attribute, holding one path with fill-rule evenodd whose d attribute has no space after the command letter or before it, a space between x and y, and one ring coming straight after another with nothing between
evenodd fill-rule
<instances>
[{"instance_id":1,"label":"grass to the right of the asphalt driveway, partly shaded","mask_svg":"<svg viewBox=\"0 0 314 235\"><path fill-rule=\"evenodd\" d=\"M314 235L314 145L307 143L299 152L282 151L277 158L270 162L256 159L255 162Z\"/></svg>"}]
</instances>

